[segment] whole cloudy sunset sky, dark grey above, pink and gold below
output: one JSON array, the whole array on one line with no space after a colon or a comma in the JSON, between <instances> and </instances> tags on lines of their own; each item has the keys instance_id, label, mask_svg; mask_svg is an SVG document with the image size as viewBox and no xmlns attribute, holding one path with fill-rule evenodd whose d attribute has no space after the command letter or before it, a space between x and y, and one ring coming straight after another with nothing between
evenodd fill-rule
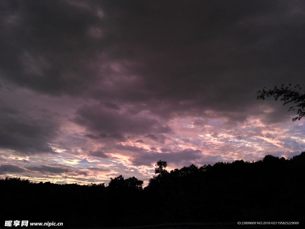
<instances>
[{"instance_id":1,"label":"whole cloudy sunset sky, dark grey above, pink and gold below","mask_svg":"<svg viewBox=\"0 0 305 229\"><path fill-rule=\"evenodd\" d=\"M109 183L305 149L305 2L0 1L0 177ZM66 172L67 171L67 172Z\"/></svg>"}]
</instances>

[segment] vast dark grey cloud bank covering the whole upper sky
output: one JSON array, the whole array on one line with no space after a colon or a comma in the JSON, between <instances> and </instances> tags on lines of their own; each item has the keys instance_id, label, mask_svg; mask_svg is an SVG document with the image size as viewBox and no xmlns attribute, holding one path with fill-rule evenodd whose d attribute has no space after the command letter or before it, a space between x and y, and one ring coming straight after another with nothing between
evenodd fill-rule
<instances>
[{"instance_id":1,"label":"vast dark grey cloud bank covering the whole upper sky","mask_svg":"<svg viewBox=\"0 0 305 229\"><path fill-rule=\"evenodd\" d=\"M163 117L208 109L231 119L252 106L249 92L289 73L304 82L302 2L82 5L2 3L2 77L41 93L109 99L104 106L116 111L144 102Z\"/></svg>"}]
</instances>

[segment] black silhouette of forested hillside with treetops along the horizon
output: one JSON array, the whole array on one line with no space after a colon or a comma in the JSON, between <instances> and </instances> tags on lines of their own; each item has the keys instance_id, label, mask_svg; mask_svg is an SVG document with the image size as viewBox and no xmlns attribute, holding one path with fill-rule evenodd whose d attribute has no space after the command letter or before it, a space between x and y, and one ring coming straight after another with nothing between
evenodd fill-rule
<instances>
[{"instance_id":1,"label":"black silhouette of forested hillside with treetops along the horizon","mask_svg":"<svg viewBox=\"0 0 305 229\"><path fill-rule=\"evenodd\" d=\"M0 179L2 220L63 222L70 228L164 223L303 221L305 152L266 155L166 170L158 161L149 185L122 175L103 184L34 183ZM2 221L4 223L4 221Z\"/></svg>"}]
</instances>

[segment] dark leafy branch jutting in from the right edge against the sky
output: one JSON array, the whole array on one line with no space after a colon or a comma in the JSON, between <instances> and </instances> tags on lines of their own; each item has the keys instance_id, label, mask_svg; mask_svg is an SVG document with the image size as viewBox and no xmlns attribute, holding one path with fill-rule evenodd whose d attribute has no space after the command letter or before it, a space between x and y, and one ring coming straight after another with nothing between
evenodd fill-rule
<instances>
[{"instance_id":1,"label":"dark leafy branch jutting in from the right edge against the sky","mask_svg":"<svg viewBox=\"0 0 305 229\"><path fill-rule=\"evenodd\" d=\"M300 92L296 91L297 89L299 89ZM265 100L265 97L274 97L275 101L277 101L279 98L281 101L284 101L283 106L288 103L295 104L294 106L290 107L288 111L296 111L298 114L298 116L292 118L293 122L296 120L300 121L301 118L305 117L305 92L301 94L301 89L302 88L298 84L292 90L291 83L287 87L284 87L284 84L282 84L280 88L275 86L273 90L266 90L266 87L264 87L262 91L259 90L257 92L257 94L259 93L257 99Z\"/></svg>"}]
</instances>

